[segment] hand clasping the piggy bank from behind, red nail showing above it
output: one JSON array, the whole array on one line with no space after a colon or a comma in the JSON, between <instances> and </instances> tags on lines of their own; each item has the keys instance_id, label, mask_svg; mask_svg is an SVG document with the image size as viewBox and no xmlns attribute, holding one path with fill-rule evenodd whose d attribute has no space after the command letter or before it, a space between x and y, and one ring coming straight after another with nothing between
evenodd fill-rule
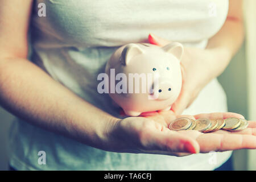
<instances>
[{"instance_id":1,"label":"hand clasping the piggy bank from behind, red nail showing above it","mask_svg":"<svg viewBox=\"0 0 256 182\"><path fill-rule=\"evenodd\" d=\"M170 41L152 34L148 36L148 41L158 46L165 46L170 43ZM171 109L175 114L181 114L192 104L204 86L222 72L219 65L216 64L216 60L220 57L216 57L215 51L217 49L184 47L184 53L181 57L183 83L180 95Z\"/></svg>"}]
</instances>

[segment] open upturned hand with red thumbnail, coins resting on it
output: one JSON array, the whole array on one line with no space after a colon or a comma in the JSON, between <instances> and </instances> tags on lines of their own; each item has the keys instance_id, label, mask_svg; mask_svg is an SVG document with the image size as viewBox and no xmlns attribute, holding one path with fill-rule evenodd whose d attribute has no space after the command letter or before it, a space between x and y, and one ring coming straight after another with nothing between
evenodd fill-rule
<instances>
[{"instance_id":1,"label":"open upturned hand with red thumbnail, coins resting on it","mask_svg":"<svg viewBox=\"0 0 256 182\"><path fill-rule=\"evenodd\" d=\"M256 122L249 121L249 127L240 132L224 130L213 133L199 131L171 131L170 122L176 118L243 118L236 113L211 113L179 115L162 111L147 117L129 117L115 123L109 133L106 150L146 154L184 156L210 151L228 151L242 148L256 148ZM108 144L107 144L108 143Z\"/></svg>"}]
</instances>

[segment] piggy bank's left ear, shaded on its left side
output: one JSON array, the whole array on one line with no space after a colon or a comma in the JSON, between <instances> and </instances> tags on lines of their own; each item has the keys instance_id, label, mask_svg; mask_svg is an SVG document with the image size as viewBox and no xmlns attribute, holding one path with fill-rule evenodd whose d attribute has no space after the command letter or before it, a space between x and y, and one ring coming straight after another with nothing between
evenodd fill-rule
<instances>
[{"instance_id":1,"label":"piggy bank's left ear, shaded on its left side","mask_svg":"<svg viewBox=\"0 0 256 182\"><path fill-rule=\"evenodd\" d=\"M141 47L137 44L128 44L122 51L121 61L123 65L129 64L129 61L136 55L143 53Z\"/></svg>"}]
</instances>

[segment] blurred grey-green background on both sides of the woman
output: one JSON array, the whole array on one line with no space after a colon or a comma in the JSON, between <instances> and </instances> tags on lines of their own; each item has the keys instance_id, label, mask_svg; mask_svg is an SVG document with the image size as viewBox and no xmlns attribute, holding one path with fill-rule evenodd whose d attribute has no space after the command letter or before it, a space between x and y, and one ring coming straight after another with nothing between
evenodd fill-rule
<instances>
[{"instance_id":1,"label":"blurred grey-green background on both sides of the woman","mask_svg":"<svg viewBox=\"0 0 256 182\"><path fill-rule=\"evenodd\" d=\"M244 0L243 8L245 42L218 80L226 92L229 111L256 121L256 1ZM8 169L8 131L13 119L0 107L0 170ZM235 170L256 170L256 150L234 151L232 158Z\"/></svg>"}]
</instances>

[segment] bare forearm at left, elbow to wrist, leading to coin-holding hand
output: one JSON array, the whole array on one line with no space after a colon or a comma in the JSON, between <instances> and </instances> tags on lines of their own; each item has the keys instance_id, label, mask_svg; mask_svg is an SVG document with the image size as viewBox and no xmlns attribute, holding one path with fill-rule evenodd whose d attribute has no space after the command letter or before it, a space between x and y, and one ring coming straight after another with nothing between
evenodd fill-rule
<instances>
[{"instance_id":1,"label":"bare forearm at left, elbow to wrist, leading to coin-holding hand","mask_svg":"<svg viewBox=\"0 0 256 182\"><path fill-rule=\"evenodd\" d=\"M0 103L32 125L102 148L118 119L76 96L26 59L0 59ZM105 125L106 124L106 125Z\"/></svg>"}]
</instances>

